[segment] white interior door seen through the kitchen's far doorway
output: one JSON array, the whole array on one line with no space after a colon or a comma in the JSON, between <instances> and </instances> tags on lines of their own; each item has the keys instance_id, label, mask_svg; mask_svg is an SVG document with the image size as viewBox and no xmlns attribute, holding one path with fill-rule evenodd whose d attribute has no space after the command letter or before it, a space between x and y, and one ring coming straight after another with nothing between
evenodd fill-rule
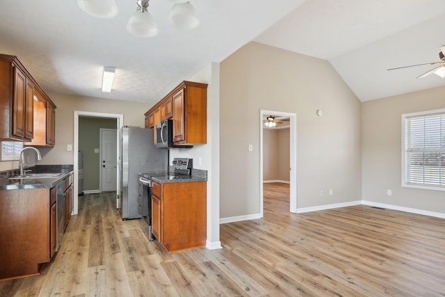
<instances>
[{"instance_id":1,"label":"white interior door seen through the kitchen's far doorway","mask_svg":"<svg viewBox=\"0 0 445 297\"><path fill-rule=\"evenodd\" d=\"M100 129L101 191L117 191L117 130Z\"/></svg>"}]
</instances>

